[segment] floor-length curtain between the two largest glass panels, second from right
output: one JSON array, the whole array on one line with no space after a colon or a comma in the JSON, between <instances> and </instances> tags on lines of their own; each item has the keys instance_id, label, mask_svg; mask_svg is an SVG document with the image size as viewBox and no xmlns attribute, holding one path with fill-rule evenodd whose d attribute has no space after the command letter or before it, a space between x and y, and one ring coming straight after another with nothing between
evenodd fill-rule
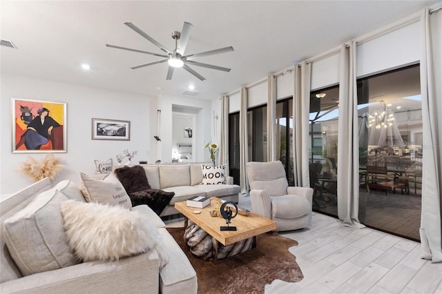
<instances>
[{"instance_id":1,"label":"floor-length curtain between the two largest glass panels, second from right","mask_svg":"<svg viewBox=\"0 0 442 294\"><path fill-rule=\"evenodd\" d=\"M345 226L359 223L359 135L356 88L356 42L344 44L339 64L338 218Z\"/></svg>"}]
</instances>

